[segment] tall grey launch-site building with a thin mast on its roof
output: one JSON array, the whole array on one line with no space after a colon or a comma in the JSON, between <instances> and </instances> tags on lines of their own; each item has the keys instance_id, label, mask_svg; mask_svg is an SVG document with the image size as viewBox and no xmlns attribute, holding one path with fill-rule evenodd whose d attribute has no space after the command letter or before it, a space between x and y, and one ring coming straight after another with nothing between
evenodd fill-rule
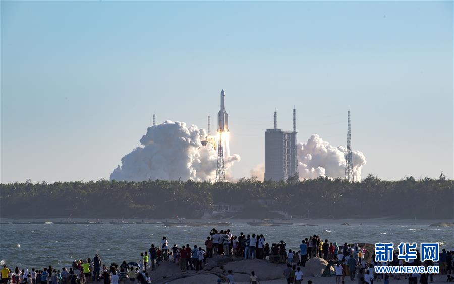
<instances>
[{"instance_id":1,"label":"tall grey launch-site building with a thin mast on its roof","mask_svg":"<svg viewBox=\"0 0 454 284\"><path fill-rule=\"evenodd\" d=\"M298 175L296 134L296 131L278 129L274 112L274 128L265 132L265 180L286 181Z\"/></svg>"}]
</instances>

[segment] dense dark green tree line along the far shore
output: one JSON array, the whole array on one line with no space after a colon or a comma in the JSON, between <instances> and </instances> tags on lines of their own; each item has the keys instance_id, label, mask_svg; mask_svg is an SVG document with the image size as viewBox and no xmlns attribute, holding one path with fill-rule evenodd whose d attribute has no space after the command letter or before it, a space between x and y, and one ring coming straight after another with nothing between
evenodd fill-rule
<instances>
[{"instance_id":1,"label":"dense dark green tree line along the far shore","mask_svg":"<svg viewBox=\"0 0 454 284\"><path fill-rule=\"evenodd\" d=\"M266 202L263 202L265 200ZM452 219L454 181L289 179L210 183L149 180L0 184L2 218L199 218L213 204L244 204L238 218L263 218L271 211L309 218Z\"/></svg>"}]
</instances>

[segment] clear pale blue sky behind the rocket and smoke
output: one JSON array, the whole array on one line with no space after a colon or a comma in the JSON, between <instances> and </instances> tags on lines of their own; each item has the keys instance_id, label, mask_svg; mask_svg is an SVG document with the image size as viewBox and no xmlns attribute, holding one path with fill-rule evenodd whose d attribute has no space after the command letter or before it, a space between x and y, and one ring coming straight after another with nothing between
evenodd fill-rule
<instances>
[{"instance_id":1,"label":"clear pale blue sky behind the rocket and smoke","mask_svg":"<svg viewBox=\"0 0 454 284\"><path fill-rule=\"evenodd\" d=\"M264 131L352 145L383 179L453 177L453 2L1 2L1 182L108 178L151 123L206 127L235 177ZM214 128L212 128L214 129Z\"/></svg>"}]
</instances>

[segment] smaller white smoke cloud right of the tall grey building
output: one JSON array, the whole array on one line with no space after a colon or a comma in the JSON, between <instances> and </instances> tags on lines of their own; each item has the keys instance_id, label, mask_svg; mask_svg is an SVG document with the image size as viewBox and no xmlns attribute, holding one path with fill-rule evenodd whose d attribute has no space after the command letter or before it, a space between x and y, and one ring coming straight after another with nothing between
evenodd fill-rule
<instances>
[{"instance_id":1,"label":"smaller white smoke cloud right of the tall grey building","mask_svg":"<svg viewBox=\"0 0 454 284\"><path fill-rule=\"evenodd\" d=\"M300 178L344 177L344 147L332 146L319 135L313 134L306 143L298 143L297 148ZM352 151L352 157L353 175L356 181L360 181L366 157L360 151Z\"/></svg>"}]
</instances>

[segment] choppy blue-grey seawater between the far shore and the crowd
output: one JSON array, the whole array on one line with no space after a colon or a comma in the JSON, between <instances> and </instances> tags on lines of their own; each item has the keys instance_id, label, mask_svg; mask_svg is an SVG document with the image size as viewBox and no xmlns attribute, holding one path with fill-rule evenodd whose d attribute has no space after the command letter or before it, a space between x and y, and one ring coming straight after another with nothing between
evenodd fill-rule
<instances>
[{"instance_id":1,"label":"choppy blue-grey seawater between the far shore and the crowd","mask_svg":"<svg viewBox=\"0 0 454 284\"><path fill-rule=\"evenodd\" d=\"M74 259L93 258L96 253L103 263L108 264L121 263L123 260L138 261L140 253L148 250L153 243L159 244L162 236L166 236L171 245L203 245L212 229L151 224L113 225L108 220L104 222L101 225L2 224L0 259L5 260L9 267L37 269L48 265L61 269L70 266ZM387 220L380 223L363 220L345 226L341 225L344 221L311 220L310 223L293 221L294 225L279 227L253 227L247 225L245 220L230 222L233 225L228 228L234 235L240 232L263 234L266 242L271 244L284 240L287 248L292 249L297 249L303 238L313 234L337 244L439 242L441 247L454 248L454 227L428 227L434 221L412 225L412 221ZM306 223L317 226L303 225Z\"/></svg>"}]
</instances>

